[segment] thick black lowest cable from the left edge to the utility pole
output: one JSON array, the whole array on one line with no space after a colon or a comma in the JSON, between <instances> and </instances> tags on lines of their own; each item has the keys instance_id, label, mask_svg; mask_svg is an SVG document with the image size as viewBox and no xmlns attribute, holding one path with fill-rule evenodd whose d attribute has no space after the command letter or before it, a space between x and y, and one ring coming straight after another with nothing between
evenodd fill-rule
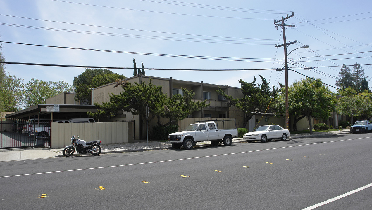
<instances>
[{"instance_id":1,"label":"thick black lowest cable from the left edge to the utility pole","mask_svg":"<svg viewBox=\"0 0 372 210\"><path fill-rule=\"evenodd\" d=\"M95 68L95 69L133 69L133 67L112 67L112 66L80 66L80 65L61 65L61 64L46 64L46 63L21 63L21 62L7 62L0 61L4 64L17 65L32 65L32 66L57 66L57 67L74 67L74 68ZM274 70L267 69L164 69L164 68L140 68L146 70L184 70L184 71L247 71L247 70Z\"/></svg>"}]
</instances>

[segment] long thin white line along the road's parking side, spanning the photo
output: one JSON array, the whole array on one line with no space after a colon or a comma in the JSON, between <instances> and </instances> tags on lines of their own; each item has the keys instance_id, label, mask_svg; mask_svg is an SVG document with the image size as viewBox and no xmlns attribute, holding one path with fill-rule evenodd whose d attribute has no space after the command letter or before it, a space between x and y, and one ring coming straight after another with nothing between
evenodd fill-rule
<instances>
[{"instance_id":1,"label":"long thin white line along the road's parking side, spanning the photo","mask_svg":"<svg viewBox=\"0 0 372 210\"><path fill-rule=\"evenodd\" d=\"M363 137L363 138L371 138L371 137ZM228 154L209 155L209 156L193 157L193 158L182 158L182 159L174 159L174 160L163 160L163 161L155 161L155 162L147 162L147 163L134 163L134 164L112 165L112 166L104 166L104 167L96 167L96 168L80 168L80 169L65 170L65 171L51 171L51 172L42 172L42 173L33 173L33 174L10 175L10 176L3 176L3 177L0 177L0 178L19 177L19 176L37 175L37 174L52 174L52 173L61 173L61 172L68 172L68 171L93 170L93 169L99 169L99 168L123 167L123 166L129 166L129 165L142 165L142 164L151 164L151 163L164 163L164 162L180 161L180 160L192 160L192 159L197 159L197 158L208 158L208 157L217 157L217 156L224 156L224 155L235 155L235 154L243 154L243 153L248 153L248 152L259 152L259 151L267 151L267 150L277 150L277 149L290 148L290 147L302 147L302 146L308 146L308 145L314 145L314 144L325 144L325 143L332 143L332 142L338 142L338 141L357 140L357 139L363 139L363 138L353 138L353 139L346 139L346 140L327 141L327 142L319 142L319 143L312 143L312 144L301 144L301 145L294 145L294 146L288 146L288 147L277 147L277 148L264 149L264 150L254 150L254 151L246 151L246 152L234 152L234 153L228 153Z\"/></svg>"}]
</instances>

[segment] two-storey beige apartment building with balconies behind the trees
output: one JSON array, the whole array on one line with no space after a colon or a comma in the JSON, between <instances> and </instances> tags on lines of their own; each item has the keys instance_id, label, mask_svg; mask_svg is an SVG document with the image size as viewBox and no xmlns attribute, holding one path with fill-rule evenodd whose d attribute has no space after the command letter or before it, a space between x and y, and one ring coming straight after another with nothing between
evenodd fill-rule
<instances>
[{"instance_id":1,"label":"two-storey beige apartment building with balconies behind the trees","mask_svg":"<svg viewBox=\"0 0 372 210\"><path fill-rule=\"evenodd\" d=\"M131 78L125 79L129 83L134 84L134 82L150 82L154 85L162 86L163 93L167 94L169 97L175 94L182 95L182 89L186 88L189 91L195 93L193 101L204 101L210 103L208 107L201 110L193 112L189 115L190 118L236 118L237 125L241 127L243 125L243 113L241 111L234 110L234 108L229 108L225 102L225 99L219 95L216 90L221 88L228 95L232 95L234 98L241 97L242 93L240 88L230 87L228 85L215 85L201 82L191 82L177 80L173 78L159 78L147 75L138 74ZM103 85L92 89L92 102L102 104L103 102L108 102L110 100L110 93L119 94L123 91L121 87L116 87L115 82ZM128 112L120 113L116 118L106 119L107 121L135 121L135 138L142 138L146 134L146 119L142 119L141 116L132 115ZM169 121L169 119L162 119L163 123ZM101 121L102 122L102 121ZM152 122L148 122L150 129L157 125L157 119ZM149 131L150 132L150 131Z\"/></svg>"}]
</instances>

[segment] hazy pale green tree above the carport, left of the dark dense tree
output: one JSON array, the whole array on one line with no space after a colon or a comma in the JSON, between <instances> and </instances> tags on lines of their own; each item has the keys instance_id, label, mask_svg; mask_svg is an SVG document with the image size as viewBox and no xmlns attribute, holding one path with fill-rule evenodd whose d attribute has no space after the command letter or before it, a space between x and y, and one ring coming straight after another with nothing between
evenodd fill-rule
<instances>
[{"instance_id":1,"label":"hazy pale green tree above the carport, left of the dark dense tree","mask_svg":"<svg viewBox=\"0 0 372 210\"><path fill-rule=\"evenodd\" d=\"M35 106L44 104L47 98L68 91L72 86L64 81L47 82L38 79L31 79L25 86L23 95L25 97L25 106Z\"/></svg>"}]
</instances>

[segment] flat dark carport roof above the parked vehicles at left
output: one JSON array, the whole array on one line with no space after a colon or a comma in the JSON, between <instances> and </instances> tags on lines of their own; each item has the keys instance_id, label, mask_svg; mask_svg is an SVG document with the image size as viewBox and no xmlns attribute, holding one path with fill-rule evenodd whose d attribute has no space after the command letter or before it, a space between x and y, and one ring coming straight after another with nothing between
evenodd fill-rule
<instances>
[{"instance_id":1,"label":"flat dark carport roof above the parked vehicles at left","mask_svg":"<svg viewBox=\"0 0 372 210\"><path fill-rule=\"evenodd\" d=\"M97 112L96 106L94 105L80 105L80 104L59 104L60 112L75 112L75 113L86 113L86 112ZM50 112L42 112L41 109L46 109L47 106L54 106L54 104L38 104L21 111L7 114L6 118L22 118L30 117L33 115L48 114Z\"/></svg>"}]
</instances>

